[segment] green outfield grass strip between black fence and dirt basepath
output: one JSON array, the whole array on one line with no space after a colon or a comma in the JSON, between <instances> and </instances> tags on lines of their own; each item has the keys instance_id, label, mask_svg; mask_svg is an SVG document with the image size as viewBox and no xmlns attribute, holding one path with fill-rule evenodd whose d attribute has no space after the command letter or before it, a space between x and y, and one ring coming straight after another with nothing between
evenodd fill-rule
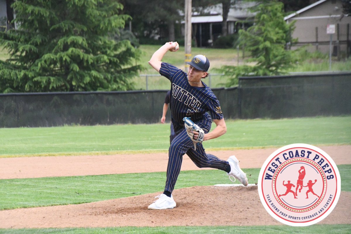
<instances>
[{"instance_id":1,"label":"green outfield grass strip between black fence and dirt basepath","mask_svg":"<svg viewBox=\"0 0 351 234\"><path fill-rule=\"evenodd\" d=\"M227 133L204 142L206 149L351 144L351 116L227 120L226 124ZM169 135L169 124L1 128L0 157L166 152Z\"/></svg>"}]
</instances>

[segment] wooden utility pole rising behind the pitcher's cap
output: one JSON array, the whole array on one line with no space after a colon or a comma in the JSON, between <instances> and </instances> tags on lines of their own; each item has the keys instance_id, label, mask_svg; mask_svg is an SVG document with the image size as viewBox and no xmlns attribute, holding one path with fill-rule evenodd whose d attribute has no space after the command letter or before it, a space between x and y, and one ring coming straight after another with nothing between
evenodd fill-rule
<instances>
[{"instance_id":1,"label":"wooden utility pole rising behind the pitcher's cap","mask_svg":"<svg viewBox=\"0 0 351 234\"><path fill-rule=\"evenodd\" d=\"M191 61L191 14L192 0L185 0L185 30L184 30L184 47L185 47L185 62ZM185 72L188 71L189 64L185 63Z\"/></svg>"}]
</instances>

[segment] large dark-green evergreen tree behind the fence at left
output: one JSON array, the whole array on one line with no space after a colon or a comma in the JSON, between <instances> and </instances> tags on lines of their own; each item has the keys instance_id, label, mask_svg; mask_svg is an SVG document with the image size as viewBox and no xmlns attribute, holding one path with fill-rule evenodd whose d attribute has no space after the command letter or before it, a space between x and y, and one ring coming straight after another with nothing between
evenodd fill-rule
<instances>
[{"instance_id":1,"label":"large dark-green evergreen tree behind the fence at left","mask_svg":"<svg viewBox=\"0 0 351 234\"><path fill-rule=\"evenodd\" d=\"M109 35L128 15L113 0L16 0L17 29L0 34L0 92L129 90L140 52Z\"/></svg>"}]
</instances>

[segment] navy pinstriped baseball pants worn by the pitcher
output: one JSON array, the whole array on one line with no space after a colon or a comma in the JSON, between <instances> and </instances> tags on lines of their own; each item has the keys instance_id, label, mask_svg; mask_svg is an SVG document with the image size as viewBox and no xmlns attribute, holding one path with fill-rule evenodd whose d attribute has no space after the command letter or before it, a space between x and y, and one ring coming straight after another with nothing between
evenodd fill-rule
<instances>
[{"instance_id":1,"label":"navy pinstriped baseball pants worn by the pitcher","mask_svg":"<svg viewBox=\"0 0 351 234\"><path fill-rule=\"evenodd\" d=\"M206 129L211 128L211 126L206 125L205 121L196 122L196 124L200 128L203 128L205 133L208 132ZM174 137L168 150L167 179L165 191L172 193L174 186L176 185L178 175L180 173L184 154L187 154L199 168L209 167L225 170L229 164L227 161L220 160L212 154L206 154L202 144L196 145L196 150L194 150L193 141L190 139L186 133L186 130L183 128L183 130L181 130L178 135Z\"/></svg>"}]
</instances>

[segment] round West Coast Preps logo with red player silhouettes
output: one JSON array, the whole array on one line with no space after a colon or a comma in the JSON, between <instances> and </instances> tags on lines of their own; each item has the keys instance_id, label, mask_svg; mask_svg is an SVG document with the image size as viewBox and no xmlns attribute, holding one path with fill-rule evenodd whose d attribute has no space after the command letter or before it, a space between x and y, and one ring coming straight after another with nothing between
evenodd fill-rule
<instances>
[{"instance_id":1,"label":"round West Coast Preps logo with red player silhouettes","mask_svg":"<svg viewBox=\"0 0 351 234\"><path fill-rule=\"evenodd\" d=\"M258 193L274 219L290 226L309 226L336 206L340 174L323 150L309 144L286 145L263 164Z\"/></svg>"}]
</instances>

